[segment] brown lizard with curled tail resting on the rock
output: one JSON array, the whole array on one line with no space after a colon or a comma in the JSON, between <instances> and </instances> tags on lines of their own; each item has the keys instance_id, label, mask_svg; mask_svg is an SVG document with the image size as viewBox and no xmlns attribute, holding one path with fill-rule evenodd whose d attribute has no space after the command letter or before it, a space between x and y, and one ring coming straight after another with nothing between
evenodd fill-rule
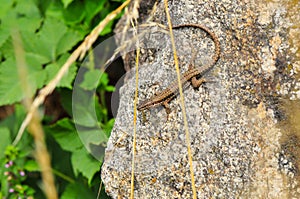
<instances>
[{"instance_id":1,"label":"brown lizard with curled tail resting on the rock","mask_svg":"<svg viewBox=\"0 0 300 199\"><path fill-rule=\"evenodd\" d=\"M204 30L205 32L207 32L215 43L215 54L212 57L212 60L213 60L212 63L210 63L206 66L197 67L197 68L190 65L189 69L181 75L180 82L181 82L183 88L186 87L188 81L191 81L192 86L194 88L198 88L203 82L205 82L205 79L202 77L200 79L197 79L197 77L199 75L202 76L207 71L209 71L215 65L215 63L218 61L218 59L220 57L220 52L221 52L220 42L219 42L217 36L212 31L210 31L207 27L200 25L200 24L182 24L182 25L174 26L172 28L178 29L178 28L182 28L182 27L200 28L200 29ZM166 108L167 113L169 113L170 109L169 109L168 103L178 94L178 92L179 92L178 90L179 90L178 82L177 82L177 80L175 80L163 91L160 91L156 95L151 97L150 99L147 99L147 100L141 102L138 105L137 109L139 111L141 111L141 110L149 109L151 107L155 107L158 105L163 105Z\"/></svg>"}]
</instances>

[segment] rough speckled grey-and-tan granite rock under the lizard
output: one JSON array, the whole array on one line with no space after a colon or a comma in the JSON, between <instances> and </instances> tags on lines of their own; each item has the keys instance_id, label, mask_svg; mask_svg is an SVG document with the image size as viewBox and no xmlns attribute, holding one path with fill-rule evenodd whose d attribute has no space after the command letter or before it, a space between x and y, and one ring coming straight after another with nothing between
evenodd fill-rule
<instances>
[{"instance_id":1,"label":"rough speckled grey-and-tan granite rock under the lizard","mask_svg":"<svg viewBox=\"0 0 300 199\"><path fill-rule=\"evenodd\" d=\"M204 24L218 36L222 49L220 60L205 75L212 81L184 90L197 198L300 198L300 135L291 133L300 132L300 127L291 130L291 125L280 125L282 121L295 124L293 114L299 114L288 112L291 105L282 101L292 99L295 110L300 107L299 2L291 4L169 1L174 25ZM141 7L149 9L142 13L152 9ZM125 21L116 31L122 31ZM159 2L152 22L167 25L166 21ZM196 66L211 61L214 44L205 32L183 28L175 34L181 72L187 70L193 49L198 51ZM151 28L143 34L141 46L139 102L176 79L166 33ZM101 174L112 198L130 197L134 52L125 59L131 71L120 91ZM138 112L134 198L192 198L179 97L170 108L169 115L161 106Z\"/></svg>"}]
</instances>

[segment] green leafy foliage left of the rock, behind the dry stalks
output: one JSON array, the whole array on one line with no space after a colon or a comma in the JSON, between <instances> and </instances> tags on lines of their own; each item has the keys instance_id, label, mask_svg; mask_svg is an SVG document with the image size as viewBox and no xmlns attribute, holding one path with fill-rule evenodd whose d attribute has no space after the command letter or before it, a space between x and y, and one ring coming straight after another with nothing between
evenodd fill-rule
<instances>
[{"instance_id":1,"label":"green leafy foliage left of the rock, behind the dry stalks","mask_svg":"<svg viewBox=\"0 0 300 199\"><path fill-rule=\"evenodd\" d=\"M70 52L121 1L0 0L0 198L45 198L31 135L25 132L17 145L12 145L26 115L21 103L25 96L21 79L29 83L34 97L55 76ZM115 23L106 26L99 42L112 34ZM14 34L19 34L22 41L26 73L20 73L17 67L19 55L13 47ZM73 64L40 110L55 185L63 199L96 198L101 182L102 162L83 146L72 118L72 89L79 65ZM113 125L104 95L114 88L109 85L108 76L93 63L86 66L80 86L83 93L97 89L90 98L96 107L96 121L86 120L86 124L80 125L103 129L94 132L99 137L94 144L100 146L107 141ZM88 113L82 114L83 118L89 118L85 115ZM103 187L100 198L108 198Z\"/></svg>"}]
</instances>

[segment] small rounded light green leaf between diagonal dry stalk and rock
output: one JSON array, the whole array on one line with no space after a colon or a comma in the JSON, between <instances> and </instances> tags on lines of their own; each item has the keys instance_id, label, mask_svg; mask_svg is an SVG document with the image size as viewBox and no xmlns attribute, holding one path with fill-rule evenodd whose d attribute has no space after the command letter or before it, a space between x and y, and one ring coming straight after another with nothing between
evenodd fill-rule
<instances>
[{"instance_id":1,"label":"small rounded light green leaf between diagonal dry stalk and rock","mask_svg":"<svg viewBox=\"0 0 300 199\"><path fill-rule=\"evenodd\" d=\"M89 70L84 74L83 82L80 87L86 90L96 89L101 78L101 71L94 69Z\"/></svg>"}]
</instances>

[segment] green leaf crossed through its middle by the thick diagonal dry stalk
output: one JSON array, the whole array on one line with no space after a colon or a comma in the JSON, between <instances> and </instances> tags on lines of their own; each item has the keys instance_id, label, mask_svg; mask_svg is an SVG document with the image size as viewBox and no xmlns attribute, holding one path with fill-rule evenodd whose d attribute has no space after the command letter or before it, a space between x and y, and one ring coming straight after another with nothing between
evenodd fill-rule
<instances>
[{"instance_id":1,"label":"green leaf crossed through its middle by the thick diagonal dry stalk","mask_svg":"<svg viewBox=\"0 0 300 199\"><path fill-rule=\"evenodd\" d=\"M60 59L57 62L54 62L52 64L49 64L46 66L46 73L48 75L46 83L49 83L55 75L58 73L58 71L61 69L63 64L68 59L69 54L64 54L60 57ZM75 64L72 64L67 73L63 76L63 78L58 83L57 87L66 87L69 89L72 89L72 82L76 76L76 66Z\"/></svg>"}]
</instances>

